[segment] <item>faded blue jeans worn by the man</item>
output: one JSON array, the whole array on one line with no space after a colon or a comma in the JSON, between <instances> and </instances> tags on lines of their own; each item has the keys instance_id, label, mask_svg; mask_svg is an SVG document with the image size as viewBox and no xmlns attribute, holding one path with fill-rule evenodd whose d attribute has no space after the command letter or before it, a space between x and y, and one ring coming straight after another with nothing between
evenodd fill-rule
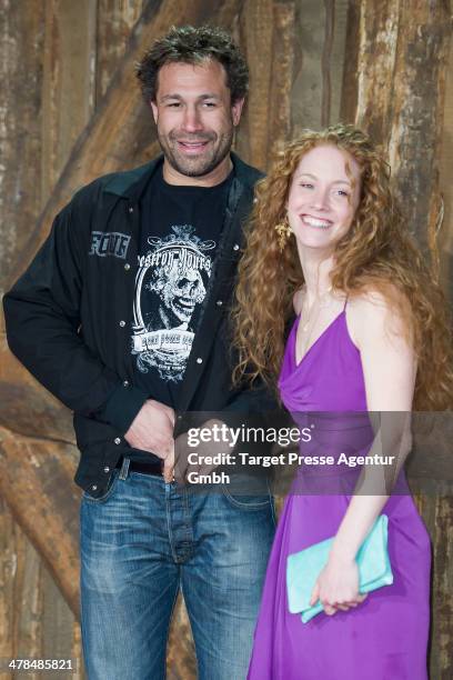
<instances>
[{"instance_id":1,"label":"faded blue jeans worn by the man","mask_svg":"<svg viewBox=\"0 0 453 680\"><path fill-rule=\"evenodd\" d=\"M246 677L275 516L268 484L192 493L117 471L81 504L82 641L89 680L160 680L181 588L200 680ZM233 480L233 478L232 478Z\"/></svg>"}]
</instances>

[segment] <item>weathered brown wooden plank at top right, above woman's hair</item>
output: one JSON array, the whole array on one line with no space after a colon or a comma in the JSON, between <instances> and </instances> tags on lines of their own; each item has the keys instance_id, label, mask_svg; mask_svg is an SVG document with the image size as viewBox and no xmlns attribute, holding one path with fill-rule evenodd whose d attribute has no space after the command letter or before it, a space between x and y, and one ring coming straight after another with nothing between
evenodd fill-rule
<instances>
[{"instance_id":1,"label":"weathered brown wooden plank at top right, above woman's hair","mask_svg":"<svg viewBox=\"0 0 453 680\"><path fill-rule=\"evenodd\" d=\"M391 109L395 190L426 254L434 249L440 217L439 160L452 29L447 6L445 0L402 3Z\"/></svg>"}]
</instances>

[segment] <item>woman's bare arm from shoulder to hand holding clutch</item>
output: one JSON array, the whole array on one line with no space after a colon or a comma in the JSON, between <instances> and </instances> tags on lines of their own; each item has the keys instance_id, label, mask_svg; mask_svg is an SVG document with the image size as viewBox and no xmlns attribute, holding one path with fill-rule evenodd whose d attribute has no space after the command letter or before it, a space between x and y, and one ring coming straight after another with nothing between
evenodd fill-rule
<instances>
[{"instance_id":1,"label":"woman's bare arm from shoulder to hand holding clutch","mask_svg":"<svg viewBox=\"0 0 453 680\"><path fill-rule=\"evenodd\" d=\"M407 413L416 374L414 352L405 339L401 318L378 293L351 301L346 319L351 339L361 353L368 409L381 412L382 436L376 437L370 454L397 451L399 470L410 450ZM355 556L389 499L382 467L364 467L358 488L360 493L351 499L333 541L329 563L312 594L312 602L321 600L330 614L335 613L335 606L348 609L363 601L364 597L359 593ZM366 488L374 494L363 494Z\"/></svg>"}]
</instances>

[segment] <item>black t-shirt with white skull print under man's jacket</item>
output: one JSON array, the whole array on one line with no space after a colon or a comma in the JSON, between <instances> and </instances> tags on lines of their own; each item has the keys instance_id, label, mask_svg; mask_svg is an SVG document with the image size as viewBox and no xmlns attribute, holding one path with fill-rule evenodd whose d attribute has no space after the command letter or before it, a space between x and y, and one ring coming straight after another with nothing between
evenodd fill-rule
<instances>
[{"instance_id":1,"label":"black t-shirt with white skull print under man's jacket","mask_svg":"<svg viewBox=\"0 0 453 680\"><path fill-rule=\"evenodd\" d=\"M168 184L141 202L132 328L134 383L174 408L218 251L232 173L215 187Z\"/></svg>"}]
</instances>

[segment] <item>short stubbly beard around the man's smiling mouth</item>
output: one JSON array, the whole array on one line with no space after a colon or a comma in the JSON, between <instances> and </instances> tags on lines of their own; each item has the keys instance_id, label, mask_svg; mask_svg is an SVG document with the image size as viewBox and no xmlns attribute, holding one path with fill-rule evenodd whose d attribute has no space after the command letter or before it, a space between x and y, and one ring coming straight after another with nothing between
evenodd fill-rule
<instances>
[{"instance_id":1,"label":"short stubbly beard around the man's smiling mouth","mask_svg":"<svg viewBox=\"0 0 453 680\"><path fill-rule=\"evenodd\" d=\"M200 156L192 158L179 152L178 139L191 140L193 142L208 141L211 144ZM193 136L170 132L170 134L164 136L160 134L158 129L158 140L163 156L174 170L185 174L185 177L204 177L212 172L230 153L233 142L233 127L231 126L229 130L220 136L215 134L215 132Z\"/></svg>"}]
</instances>

